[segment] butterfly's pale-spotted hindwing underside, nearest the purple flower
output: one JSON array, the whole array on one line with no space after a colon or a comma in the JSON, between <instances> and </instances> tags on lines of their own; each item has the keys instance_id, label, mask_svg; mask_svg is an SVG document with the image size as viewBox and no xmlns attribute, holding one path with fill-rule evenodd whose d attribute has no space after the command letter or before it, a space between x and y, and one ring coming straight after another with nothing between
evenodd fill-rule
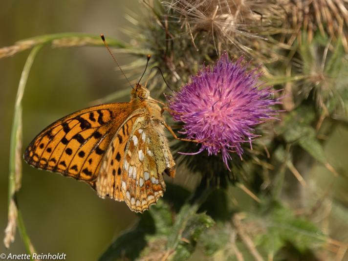
<instances>
[{"instance_id":1,"label":"butterfly's pale-spotted hindwing underside, nearest the purple flower","mask_svg":"<svg viewBox=\"0 0 348 261\"><path fill-rule=\"evenodd\" d=\"M138 117L133 126L125 151L121 191L131 210L143 212L163 196L163 174L174 177L175 163L164 137L163 126L157 126L157 122L149 116ZM157 128L162 130L158 132ZM162 141L164 145L157 148Z\"/></svg>"}]
</instances>

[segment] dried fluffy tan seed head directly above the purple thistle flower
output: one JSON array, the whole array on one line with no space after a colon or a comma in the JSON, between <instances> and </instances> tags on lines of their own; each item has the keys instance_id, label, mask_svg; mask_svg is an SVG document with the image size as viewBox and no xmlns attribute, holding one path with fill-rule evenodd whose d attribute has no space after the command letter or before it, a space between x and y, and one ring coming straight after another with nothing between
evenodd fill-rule
<instances>
[{"instance_id":1,"label":"dried fluffy tan seed head directly above the purple thistle flower","mask_svg":"<svg viewBox=\"0 0 348 261\"><path fill-rule=\"evenodd\" d=\"M276 17L273 5L265 0L172 0L162 3L186 28L197 48L201 46L196 43L196 38L205 33L206 41L212 40L218 53L231 43L243 52L251 51L255 40L265 39L262 31L273 26Z\"/></svg>"}]
</instances>

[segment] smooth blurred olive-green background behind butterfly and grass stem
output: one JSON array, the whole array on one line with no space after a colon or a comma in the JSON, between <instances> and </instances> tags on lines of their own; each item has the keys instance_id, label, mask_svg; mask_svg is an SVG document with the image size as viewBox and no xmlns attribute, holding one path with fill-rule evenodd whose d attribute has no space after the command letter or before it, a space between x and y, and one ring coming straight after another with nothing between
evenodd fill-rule
<instances>
[{"instance_id":1,"label":"smooth blurred olive-green background behind butterfly and grass stem","mask_svg":"<svg viewBox=\"0 0 348 261\"><path fill-rule=\"evenodd\" d=\"M136 0L128 1L3 1L0 9L0 46L42 34L59 32L104 33L131 41L122 30L132 26L125 19L131 10L141 14ZM13 108L22 67L29 51L0 60L0 233L7 223L7 183L10 131ZM117 55L121 65L131 57ZM145 60L144 60L145 63ZM51 49L46 45L36 58L23 99L23 144L26 146L44 127L66 114L83 109L94 100L128 85L103 47ZM129 98L124 101L128 101ZM326 143L329 162L341 174L348 173L348 131L340 127ZM24 149L24 148L23 148ZM323 188L332 182L336 199L348 204L348 184L324 167L311 175ZM180 176L178 177L180 178ZM307 180L311 176L305 177ZM309 183L310 184L310 183ZM137 219L124 203L101 199L83 182L36 170L23 162L19 206L38 253L64 252L67 260L96 260L109 243ZM347 224L346 224L347 225ZM337 224L335 239L348 240ZM17 233L10 250L0 243L0 253L25 253Z\"/></svg>"}]
</instances>

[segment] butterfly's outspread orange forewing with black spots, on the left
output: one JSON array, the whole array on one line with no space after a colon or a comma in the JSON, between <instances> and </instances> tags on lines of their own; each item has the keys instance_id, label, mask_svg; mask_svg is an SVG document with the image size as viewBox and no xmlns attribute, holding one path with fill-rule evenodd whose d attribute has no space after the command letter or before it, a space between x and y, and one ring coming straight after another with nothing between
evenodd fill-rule
<instances>
[{"instance_id":1,"label":"butterfly's outspread orange forewing with black spots, on the left","mask_svg":"<svg viewBox=\"0 0 348 261\"><path fill-rule=\"evenodd\" d=\"M74 112L37 135L25 150L24 160L33 167L85 180L93 186L114 134L131 112L129 103Z\"/></svg>"}]
</instances>

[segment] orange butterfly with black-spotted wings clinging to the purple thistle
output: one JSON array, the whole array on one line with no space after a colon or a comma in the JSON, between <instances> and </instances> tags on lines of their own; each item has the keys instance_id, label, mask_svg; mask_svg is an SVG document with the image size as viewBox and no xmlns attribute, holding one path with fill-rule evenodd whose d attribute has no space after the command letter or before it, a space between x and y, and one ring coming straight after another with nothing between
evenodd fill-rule
<instances>
[{"instance_id":1,"label":"orange butterfly with black-spotted wings clinging to the purple thistle","mask_svg":"<svg viewBox=\"0 0 348 261\"><path fill-rule=\"evenodd\" d=\"M54 122L29 144L24 160L86 181L99 196L124 200L135 212L163 196L163 174L175 175L161 108L138 84L129 103L90 107Z\"/></svg>"}]
</instances>

